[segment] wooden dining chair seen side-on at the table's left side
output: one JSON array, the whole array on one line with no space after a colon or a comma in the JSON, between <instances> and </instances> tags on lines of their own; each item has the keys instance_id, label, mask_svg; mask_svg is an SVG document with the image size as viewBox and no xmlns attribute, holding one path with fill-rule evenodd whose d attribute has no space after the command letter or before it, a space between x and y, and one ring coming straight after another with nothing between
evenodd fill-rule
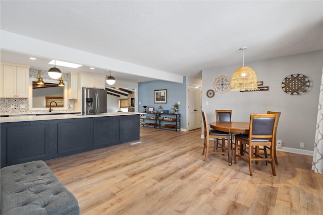
<instances>
[{"instance_id":1,"label":"wooden dining chair seen side-on at the table's left side","mask_svg":"<svg viewBox=\"0 0 323 215\"><path fill-rule=\"evenodd\" d=\"M206 113L205 111L202 111L202 118L203 118L203 125L204 125L204 146L203 146L203 153L205 153L205 158L204 161L207 160L208 154L222 154L222 155L228 155L228 163L230 164L230 150L226 151L226 139L230 138L230 133L224 132L224 131L218 131L214 129L209 129L208 128L208 122L206 118ZM221 144L219 143L218 146L209 146L209 138L217 138L217 139L222 139ZM228 142L228 147L229 147L229 142ZM209 151L209 149L214 149L213 151ZM219 152L218 149L221 149Z\"/></svg>"}]
</instances>

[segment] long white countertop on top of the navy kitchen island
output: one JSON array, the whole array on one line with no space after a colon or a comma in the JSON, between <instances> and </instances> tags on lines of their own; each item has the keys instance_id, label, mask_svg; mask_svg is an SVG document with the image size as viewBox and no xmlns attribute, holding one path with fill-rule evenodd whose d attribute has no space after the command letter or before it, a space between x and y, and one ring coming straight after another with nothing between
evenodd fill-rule
<instances>
[{"instance_id":1,"label":"long white countertop on top of the navy kitchen island","mask_svg":"<svg viewBox=\"0 0 323 215\"><path fill-rule=\"evenodd\" d=\"M9 116L0 117L0 123L5 122L23 122L23 121L39 121L39 120L52 120L52 119L79 119L88 117L103 117L103 116L122 116L122 115L136 115L144 114L140 112L117 112L117 113L101 113L98 115L76 115L76 114L56 114L56 115L32 115L32 116Z\"/></svg>"}]
</instances>

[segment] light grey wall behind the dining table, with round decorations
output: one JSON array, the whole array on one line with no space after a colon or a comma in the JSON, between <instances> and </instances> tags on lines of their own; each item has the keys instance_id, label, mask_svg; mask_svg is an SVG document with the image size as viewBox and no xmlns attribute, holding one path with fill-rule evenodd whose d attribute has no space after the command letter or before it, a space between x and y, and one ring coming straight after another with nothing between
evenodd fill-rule
<instances>
[{"instance_id":1,"label":"light grey wall behind the dining table, with round decorations","mask_svg":"<svg viewBox=\"0 0 323 215\"><path fill-rule=\"evenodd\" d=\"M249 122L250 113L266 113L267 110L282 112L278 124L277 139L282 139L283 148L299 148L313 151L320 81L323 68L323 50L245 63L252 67L258 81L268 86L269 91L216 93L213 98L206 91L213 89L219 76L230 77L241 65L231 65L202 70L202 110L208 121L216 121L216 109L232 109L234 121ZM289 75L302 74L311 83L310 89L300 95L289 95L282 90L282 81ZM208 105L206 105L208 102Z\"/></svg>"}]
</instances>

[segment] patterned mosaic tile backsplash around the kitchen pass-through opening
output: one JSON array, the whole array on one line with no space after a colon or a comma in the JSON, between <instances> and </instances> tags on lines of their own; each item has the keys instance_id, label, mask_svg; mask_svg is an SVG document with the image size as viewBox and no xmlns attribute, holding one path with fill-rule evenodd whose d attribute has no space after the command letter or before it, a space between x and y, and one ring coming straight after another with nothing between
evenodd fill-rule
<instances>
[{"instance_id":1,"label":"patterned mosaic tile backsplash around the kitchen pass-through opening","mask_svg":"<svg viewBox=\"0 0 323 215\"><path fill-rule=\"evenodd\" d=\"M47 70L42 69L29 69L29 78L37 78L38 72L41 71L41 77L47 80L53 80L49 78ZM62 74L62 79L66 87L68 87L69 76L66 73ZM71 106L73 108L71 108ZM68 100L67 110L53 110L53 112L74 112L74 100ZM0 98L0 114L26 114L26 113L41 113L42 110L29 110L29 99L27 98ZM47 112L47 111L45 111Z\"/></svg>"}]
</instances>

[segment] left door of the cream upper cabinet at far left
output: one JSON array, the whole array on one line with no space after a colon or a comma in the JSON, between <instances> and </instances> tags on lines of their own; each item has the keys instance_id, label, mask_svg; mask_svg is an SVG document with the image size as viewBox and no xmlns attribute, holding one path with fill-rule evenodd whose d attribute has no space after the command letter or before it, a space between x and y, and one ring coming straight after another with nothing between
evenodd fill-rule
<instances>
[{"instance_id":1,"label":"left door of the cream upper cabinet at far left","mask_svg":"<svg viewBox=\"0 0 323 215\"><path fill-rule=\"evenodd\" d=\"M15 97L16 95L16 66L4 65L2 71L2 97Z\"/></svg>"}]
</instances>

